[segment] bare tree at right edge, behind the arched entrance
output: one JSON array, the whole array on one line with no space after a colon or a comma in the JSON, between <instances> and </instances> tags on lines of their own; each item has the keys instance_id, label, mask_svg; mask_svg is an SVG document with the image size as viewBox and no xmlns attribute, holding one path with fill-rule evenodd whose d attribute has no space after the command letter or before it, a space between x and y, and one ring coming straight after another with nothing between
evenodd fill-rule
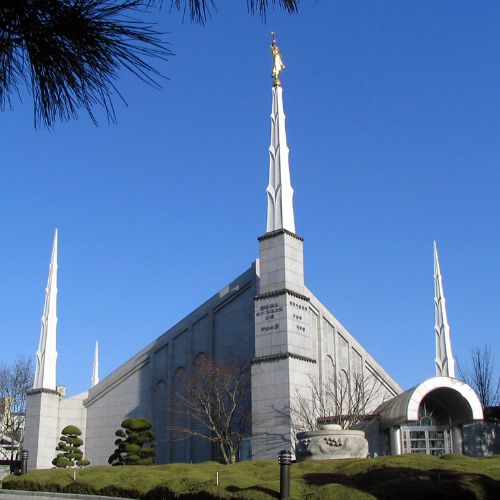
<instances>
[{"instance_id":1,"label":"bare tree at right edge, behind the arched entrance","mask_svg":"<svg viewBox=\"0 0 500 500\"><path fill-rule=\"evenodd\" d=\"M458 363L459 377L476 391L483 408L500 405L500 375L495 375L491 346L473 349L471 363Z\"/></svg>"}]
</instances>

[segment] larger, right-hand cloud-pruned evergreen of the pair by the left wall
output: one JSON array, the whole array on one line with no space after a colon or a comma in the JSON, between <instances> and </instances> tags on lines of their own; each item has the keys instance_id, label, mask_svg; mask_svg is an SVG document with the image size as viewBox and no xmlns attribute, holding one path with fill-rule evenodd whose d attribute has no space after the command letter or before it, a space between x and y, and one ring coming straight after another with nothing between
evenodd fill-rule
<instances>
[{"instance_id":1,"label":"larger, right-hand cloud-pruned evergreen of the pair by the left wall","mask_svg":"<svg viewBox=\"0 0 500 500\"><path fill-rule=\"evenodd\" d=\"M156 457L156 440L146 418L126 418L122 428L115 432L116 449L109 457L111 465L153 465Z\"/></svg>"}]
</instances>

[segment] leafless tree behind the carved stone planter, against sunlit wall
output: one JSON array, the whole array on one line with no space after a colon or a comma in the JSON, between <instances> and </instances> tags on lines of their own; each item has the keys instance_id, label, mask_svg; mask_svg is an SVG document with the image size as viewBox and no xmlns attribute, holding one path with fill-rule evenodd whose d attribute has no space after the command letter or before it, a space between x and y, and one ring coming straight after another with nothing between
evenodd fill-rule
<instances>
[{"instance_id":1,"label":"leafless tree behind the carved stone planter, against sunlit wall","mask_svg":"<svg viewBox=\"0 0 500 500\"><path fill-rule=\"evenodd\" d=\"M341 371L321 384L310 376L306 390L296 391L290 404L292 432L315 431L318 423L351 429L390 394L374 375Z\"/></svg>"}]
</instances>

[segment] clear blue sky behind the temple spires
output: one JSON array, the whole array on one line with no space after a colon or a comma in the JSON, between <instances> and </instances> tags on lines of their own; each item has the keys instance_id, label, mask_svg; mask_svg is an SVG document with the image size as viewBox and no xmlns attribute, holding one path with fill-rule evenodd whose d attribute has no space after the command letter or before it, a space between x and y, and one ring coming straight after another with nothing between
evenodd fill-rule
<instances>
[{"instance_id":1,"label":"clear blue sky behind the temple spires","mask_svg":"<svg viewBox=\"0 0 500 500\"><path fill-rule=\"evenodd\" d=\"M118 123L0 113L0 359L34 357L59 228L58 383L90 382L258 256L271 55L283 73L306 283L403 386L434 374L432 241L459 360L500 366L500 4L304 1L267 23L149 14L176 53L160 91L123 74Z\"/></svg>"}]
</instances>

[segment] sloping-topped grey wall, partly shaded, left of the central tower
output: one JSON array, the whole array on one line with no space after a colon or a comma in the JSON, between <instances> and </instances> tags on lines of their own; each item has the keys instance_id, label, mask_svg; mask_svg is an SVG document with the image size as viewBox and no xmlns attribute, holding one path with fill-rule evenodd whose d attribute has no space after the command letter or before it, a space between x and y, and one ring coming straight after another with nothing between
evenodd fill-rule
<instances>
[{"instance_id":1,"label":"sloping-topped grey wall, partly shaded, left of the central tower","mask_svg":"<svg viewBox=\"0 0 500 500\"><path fill-rule=\"evenodd\" d=\"M92 465L107 464L115 448L115 431L130 417L152 420L159 463L217 458L206 440L179 440L173 429L180 417L171 411L172 401L182 390L181 375L189 373L197 356L242 363L254 357L255 287L252 266L90 389L84 405L86 458Z\"/></svg>"}]
</instances>

